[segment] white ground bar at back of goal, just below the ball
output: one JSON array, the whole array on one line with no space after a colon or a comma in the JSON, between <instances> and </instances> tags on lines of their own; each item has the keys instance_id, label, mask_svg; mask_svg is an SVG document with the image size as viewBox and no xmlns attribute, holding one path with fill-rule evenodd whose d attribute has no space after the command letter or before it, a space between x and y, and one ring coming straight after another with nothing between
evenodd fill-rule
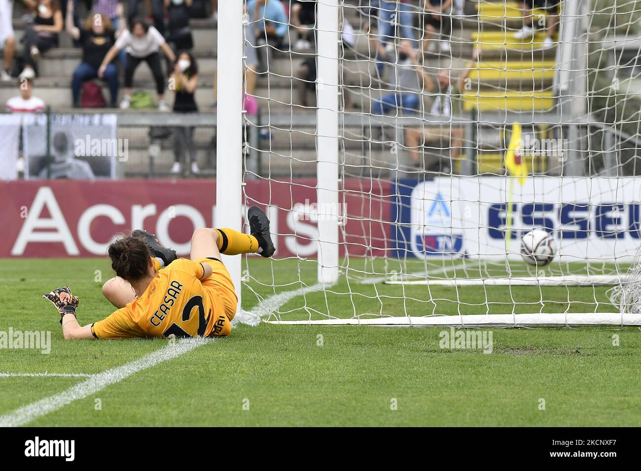
<instances>
[{"instance_id":1,"label":"white ground bar at back of goal, just below the ball","mask_svg":"<svg viewBox=\"0 0 641 471\"><path fill-rule=\"evenodd\" d=\"M388 280L386 285L431 286L615 286L631 281L628 274L519 276L512 278L438 278L417 280Z\"/></svg>"}]
</instances>

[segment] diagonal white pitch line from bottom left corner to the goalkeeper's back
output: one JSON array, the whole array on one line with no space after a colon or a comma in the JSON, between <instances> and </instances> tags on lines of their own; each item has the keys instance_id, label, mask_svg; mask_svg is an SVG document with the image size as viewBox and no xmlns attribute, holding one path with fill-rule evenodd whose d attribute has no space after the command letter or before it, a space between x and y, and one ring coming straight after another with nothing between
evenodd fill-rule
<instances>
[{"instance_id":1,"label":"diagonal white pitch line from bottom left corner to the goalkeeper's back","mask_svg":"<svg viewBox=\"0 0 641 471\"><path fill-rule=\"evenodd\" d=\"M181 356L193 349L204 345L204 343L213 342L213 339L206 338L188 338L179 340L176 343L165 345L162 349L152 352L140 359L130 361L124 365L110 370L103 371L102 373L90 376L87 381L78 383L66 391L40 399L40 401L33 402L28 406L15 409L15 411L0 416L0 427L19 427L28 424L38 417L48 414L49 412L56 411L67 404L71 404L78 399L92 395L110 384L118 383L126 377L131 376L139 371L151 368L158 363L168 361L177 356Z\"/></svg>"}]
</instances>

